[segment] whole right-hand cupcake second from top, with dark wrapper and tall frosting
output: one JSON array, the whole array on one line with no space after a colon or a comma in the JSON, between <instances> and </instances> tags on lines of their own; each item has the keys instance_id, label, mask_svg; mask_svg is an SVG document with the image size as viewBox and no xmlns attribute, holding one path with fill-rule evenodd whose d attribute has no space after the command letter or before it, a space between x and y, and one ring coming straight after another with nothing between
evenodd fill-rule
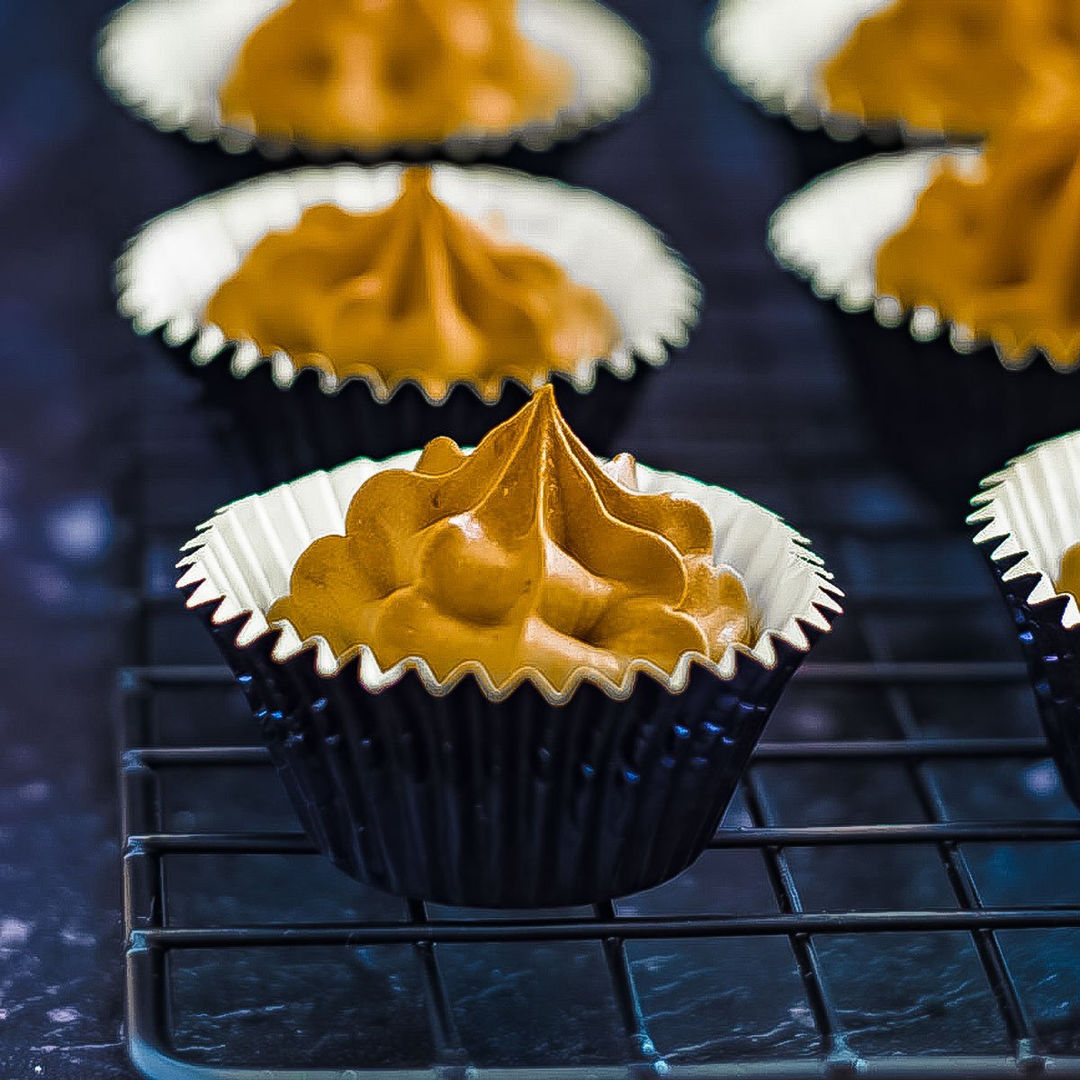
<instances>
[{"instance_id":1,"label":"whole right-hand cupcake second from top, with dark wrapper and tall frosting","mask_svg":"<svg viewBox=\"0 0 1080 1080\"><path fill-rule=\"evenodd\" d=\"M950 514L996 461L1080 426L1066 374L1080 363L1076 139L1063 118L1017 124L984 152L880 156L772 219L780 262L842 311L887 451ZM917 345L892 328L907 322Z\"/></svg>"}]
</instances>

